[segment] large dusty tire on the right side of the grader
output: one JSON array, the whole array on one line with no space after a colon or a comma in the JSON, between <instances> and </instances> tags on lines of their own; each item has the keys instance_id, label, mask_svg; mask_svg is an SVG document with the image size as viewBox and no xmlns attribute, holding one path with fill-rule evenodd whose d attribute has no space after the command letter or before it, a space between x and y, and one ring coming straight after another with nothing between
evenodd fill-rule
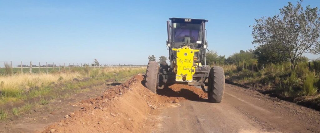
<instances>
[{"instance_id":1,"label":"large dusty tire on the right side of the grader","mask_svg":"<svg viewBox=\"0 0 320 133\"><path fill-rule=\"evenodd\" d=\"M215 66L210 69L208 79L208 100L212 103L220 103L225 88L225 76L222 67Z\"/></svg>"}]
</instances>

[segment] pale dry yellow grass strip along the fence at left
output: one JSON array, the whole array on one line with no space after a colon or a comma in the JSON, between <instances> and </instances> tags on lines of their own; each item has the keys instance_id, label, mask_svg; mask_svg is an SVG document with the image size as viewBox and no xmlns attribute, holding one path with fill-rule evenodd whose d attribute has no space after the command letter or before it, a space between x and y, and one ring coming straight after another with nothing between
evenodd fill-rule
<instances>
[{"instance_id":1,"label":"pale dry yellow grass strip along the fence at left","mask_svg":"<svg viewBox=\"0 0 320 133\"><path fill-rule=\"evenodd\" d=\"M81 79L89 76L96 79L105 77L117 78L119 73L125 76L135 71L141 71L141 69L145 68L90 68L90 70L66 70L50 74L0 75L0 104L49 93L49 86L53 82L55 84L64 84L72 81L73 78ZM37 91L30 92L30 88L36 88Z\"/></svg>"}]
</instances>

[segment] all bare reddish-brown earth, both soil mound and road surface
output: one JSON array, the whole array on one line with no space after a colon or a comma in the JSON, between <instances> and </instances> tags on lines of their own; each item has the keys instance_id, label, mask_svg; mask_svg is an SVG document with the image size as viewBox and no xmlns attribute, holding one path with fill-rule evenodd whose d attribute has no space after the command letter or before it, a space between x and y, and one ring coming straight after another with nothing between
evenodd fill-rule
<instances>
[{"instance_id":1,"label":"all bare reddish-brown earth, both soil mound and road surface","mask_svg":"<svg viewBox=\"0 0 320 133\"><path fill-rule=\"evenodd\" d=\"M101 96L72 103L73 111L61 114L61 108L59 115L52 116L60 116L55 122L38 122L34 130L21 130L28 129L30 122L12 122L11 128L3 131L320 132L318 111L256 91L226 84L223 101L208 103L206 93L199 88L176 84L154 94L141 84L142 80L137 75L123 85L105 89ZM22 119L27 118L18 121Z\"/></svg>"}]
</instances>

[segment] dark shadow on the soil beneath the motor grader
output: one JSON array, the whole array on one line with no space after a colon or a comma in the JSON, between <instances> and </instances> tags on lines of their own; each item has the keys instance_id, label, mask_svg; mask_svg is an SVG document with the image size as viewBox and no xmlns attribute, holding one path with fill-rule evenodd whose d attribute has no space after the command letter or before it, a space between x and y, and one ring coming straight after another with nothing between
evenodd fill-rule
<instances>
[{"instance_id":1,"label":"dark shadow on the soil beneath the motor grader","mask_svg":"<svg viewBox=\"0 0 320 133\"><path fill-rule=\"evenodd\" d=\"M208 102L207 99L201 98L198 94L188 89L180 89L180 91L173 91L169 86L165 86L163 89L157 89L157 94L167 97L183 97L191 101Z\"/></svg>"}]
</instances>

